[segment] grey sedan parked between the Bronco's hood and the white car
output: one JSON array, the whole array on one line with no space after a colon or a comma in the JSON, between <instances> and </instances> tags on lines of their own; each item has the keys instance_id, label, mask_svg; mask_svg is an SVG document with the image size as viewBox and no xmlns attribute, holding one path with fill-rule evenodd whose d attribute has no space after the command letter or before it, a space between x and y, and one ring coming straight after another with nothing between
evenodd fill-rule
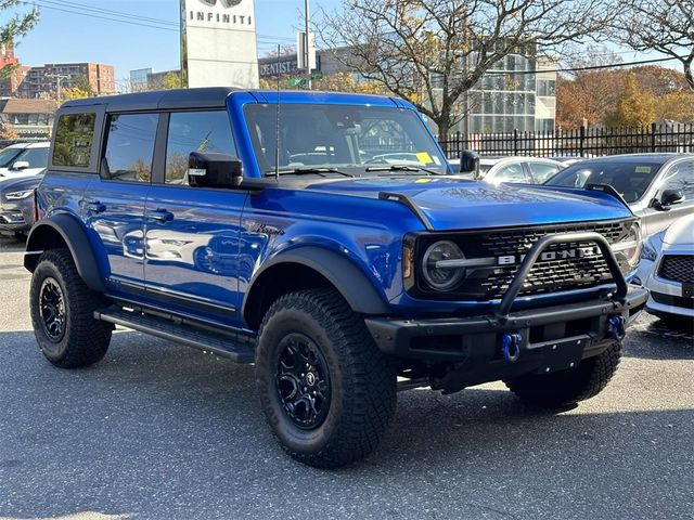
<instances>
[{"instance_id":1,"label":"grey sedan parked between the Bronco's hood and the white car","mask_svg":"<svg viewBox=\"0 0 694 520\"><path fill-rule=\"evenodd\" d=\"M544 184L614 187L641 218L646 237L694 211L694 154L631 154L589 159L569 166Z\"/></svg>"}]
</instances>

